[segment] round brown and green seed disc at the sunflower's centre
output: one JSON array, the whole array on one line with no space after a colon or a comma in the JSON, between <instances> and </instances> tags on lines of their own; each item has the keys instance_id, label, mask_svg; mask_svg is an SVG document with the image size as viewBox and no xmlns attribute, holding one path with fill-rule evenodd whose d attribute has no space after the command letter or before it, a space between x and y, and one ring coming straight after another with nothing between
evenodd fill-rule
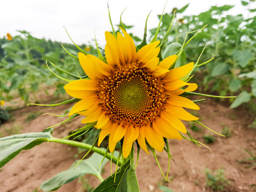
<instances>
[{"instance_id":1,"label":"round brown and green seed disc at the sunflower's centre","mask_svg":"<svg viewBox=\"0 0 256 192\"><path fill-rule=\"evenodd\" d=\"M100 86L101 106L113 123L151 124L167 98L161 78L137 63L116 68Z\"/></svg>"}]
</instances>

